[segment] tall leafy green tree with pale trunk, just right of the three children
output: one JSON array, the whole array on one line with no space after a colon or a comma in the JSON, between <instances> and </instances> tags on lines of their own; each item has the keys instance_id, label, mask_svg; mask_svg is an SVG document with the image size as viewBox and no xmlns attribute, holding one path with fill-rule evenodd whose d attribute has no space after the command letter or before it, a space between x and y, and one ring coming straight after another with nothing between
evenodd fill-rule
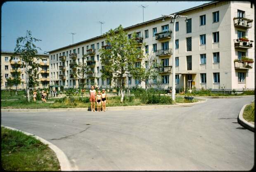
<instances>
[{"instance_id":1,"label":"tall leafy green tree with pale trunk, just right of the three children","mask_svg":"<svg viewBox=\"0 0 256 172\"><path fill-rule=\"evenodd\" d=\"M120 25L114 30L109 30L103 35L106 38L109 48L100 49L101 63L104 68L101 70L102 78L109 77L110 82L113 78L117 79L117 86L121 92L121 102L124 98L124 77L133 73L137 57L144 58L142 49L138 48L138 42L135 40L137 35L133 33L131 39L128 39L128 33ZM142 44L142 46L144 46Z\"/></svg>"}]
</instances>

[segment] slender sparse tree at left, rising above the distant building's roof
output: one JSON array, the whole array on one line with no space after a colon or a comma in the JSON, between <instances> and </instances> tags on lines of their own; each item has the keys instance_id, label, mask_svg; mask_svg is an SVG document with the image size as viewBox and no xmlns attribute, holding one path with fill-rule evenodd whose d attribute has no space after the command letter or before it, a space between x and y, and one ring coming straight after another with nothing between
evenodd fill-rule
<instances>
[{"instance_id":1,"label":"slender sparse tree at left, rising above the distant building's roof","mask_svg":"<svg viewBox=\"0 0 256 172\"><path fill-rule=\"evenodd\" d=\"M26 98L30 101L29 88L34 87L38 84L38 70L40 64L36 63L35 59L37 56L36 42L41 41L32 37L31 31L27 30L26 37L18 37L16 41L16 47L14 54L10 61L15 57L19 56L21 60L21 67L25 70L25 81L26 81Z\"/></svg>"}]
</instances>

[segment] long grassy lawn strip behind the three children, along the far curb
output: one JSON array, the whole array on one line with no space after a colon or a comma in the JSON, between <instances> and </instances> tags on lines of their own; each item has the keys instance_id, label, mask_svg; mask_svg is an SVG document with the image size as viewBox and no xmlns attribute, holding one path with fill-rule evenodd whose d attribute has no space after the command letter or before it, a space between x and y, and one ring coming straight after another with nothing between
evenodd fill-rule
<instances>
[{"instance_id":1,"label":"long grassy lawn strip behind the three children, along the far curb","mask_svg":"<svg viewBox=\"0 0 256 172\"><path fill-rule=\"evenodd\" d=\"M192 101L185 100L184 98L177 97L176 103L188 103L188 102L198 102L202 99L194 98ZM90 102L88 98L83 98L83 101L70 100L70 99L48 99L48 102L54 103L41 103L41 101L37 102L26 102L25 100L13 100L13 101L2 101L1 108L2 109L56 109L56 108L81 108L81 107L90 107ZM123 103L120 103L120 97L109 97L107 102L107 107L115 107L115 106L139 106L139 105L171 105L171 103L159 103L159 104L145 104L138 98L134 99L125 99ZM95 103L95 107L97 104Z\"/></svg>"}]
</instances>

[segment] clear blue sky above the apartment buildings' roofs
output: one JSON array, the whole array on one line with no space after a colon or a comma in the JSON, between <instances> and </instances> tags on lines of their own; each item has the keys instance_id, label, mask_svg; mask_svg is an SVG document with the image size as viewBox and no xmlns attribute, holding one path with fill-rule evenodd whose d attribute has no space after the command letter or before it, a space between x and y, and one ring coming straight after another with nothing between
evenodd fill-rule
<instances>
[{"instance_id":1,"label":"clear blue sky above the apartment buildings' roofs","mask_svg":"<svg viewBox=\"0 0 256 172\"><path fill-rule=\"evenodd\" d=\"M145 5L144 21L172 14L210 1L129 1L129 2L5 2L1 12L1 50L14 51L17 37L31 30L39 53L81 42L114 29L143 22L139 5Z\"/></svg>"}]
</instances>

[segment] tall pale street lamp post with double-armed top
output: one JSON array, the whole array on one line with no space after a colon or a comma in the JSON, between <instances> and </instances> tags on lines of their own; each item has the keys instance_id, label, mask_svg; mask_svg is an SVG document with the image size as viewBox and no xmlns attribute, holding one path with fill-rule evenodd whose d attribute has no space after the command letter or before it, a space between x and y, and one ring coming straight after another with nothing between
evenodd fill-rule
<instances>
[{"instance_id":1,"label":"tall pale street lamp post with double-armed top","mask_svg":"<svg viewBox=\"0 0 256 172\"><path fill-rule=\"evenodd\" d=\"M171 20L173 19L173 67L172 67L172 74L173 74L173 80L172 80L172 84L173 84L173 87L172 87L172 91L171 91L171 98L172 100L175 100L175 32L176 32L176 24L175 24L175 21L177 18L181 18L181 17L186 17L186 22L187 22L187 16L180 16L178 14L173 14L173 15L163 15L162 16L165 16L165 17L170 17ZM164 18L162 21L165 21ZM172 23L172 21L171 21ZM185 81L184 81L185 82Z\"/></svg>"}]
</instances>

